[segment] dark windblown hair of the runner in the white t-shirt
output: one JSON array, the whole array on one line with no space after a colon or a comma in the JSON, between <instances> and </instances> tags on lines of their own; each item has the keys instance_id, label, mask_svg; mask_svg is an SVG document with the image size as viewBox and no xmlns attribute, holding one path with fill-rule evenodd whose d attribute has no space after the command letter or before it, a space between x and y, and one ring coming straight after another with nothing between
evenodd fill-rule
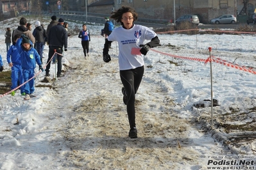
<instances>
[{"instance_id":1,"label":"dark windblown hair of the runner in the white t-shirt","mask_svg":"<svg viewBox=\"0 0 256 170\"><path fill-rule=\"evenodd\" d=\"M116 22L121 22L121 19L123 17L123 13L130 12L133 16L133 22L138 19L138 13L135 12L133 8L130 6L122 6L117 10L116 12L112 12L110 18L114 19ZM123 22L121 22L121 25L123 26Z\"/></svg>"}]
</instances>

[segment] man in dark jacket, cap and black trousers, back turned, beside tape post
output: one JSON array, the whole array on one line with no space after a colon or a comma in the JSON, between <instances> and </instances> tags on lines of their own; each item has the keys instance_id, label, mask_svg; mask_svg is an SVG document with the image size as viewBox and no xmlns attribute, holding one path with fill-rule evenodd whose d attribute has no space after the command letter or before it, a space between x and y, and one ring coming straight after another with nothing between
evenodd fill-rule
<instances>
[{"instance_id":1,"label":"man in dark jacket, cap and black trousers, back turned, beside tape post","mask_svg":"<svg viewBox=\"0 0 256 170\"><path fill-rule=\"evenodd\" d=\"M58 71L57 71L57 77L62 77L62 56L59 54L62 54L63 47L65 51L67 51L67 31L65 30L65 27L63 27L64 19L60 18L58 19L58 24L56 26L51 27L49 31L49 35L47 36L47 42L49 43L49 54L47 63L51 61L51 58L53 58L53 55L56 52L57 59L58 59ZM51 65L46 66L46 76L49 76L49 69Z\"/></svg>"}]
</instances>

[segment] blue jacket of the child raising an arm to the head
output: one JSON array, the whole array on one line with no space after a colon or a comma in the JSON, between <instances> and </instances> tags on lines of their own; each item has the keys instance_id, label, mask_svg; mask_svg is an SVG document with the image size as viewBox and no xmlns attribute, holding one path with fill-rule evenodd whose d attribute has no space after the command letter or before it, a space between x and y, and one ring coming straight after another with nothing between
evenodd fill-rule
<instances>
[{"instance_id":1,"label":"blue jacket of the child raising an arm to the head","mask_svg":"<svg viewBox=\"0 0 256 170\"><path fill-rule=\"evenodd\" d=\"M40 56L33 48L33 43L30 41L30 48L24 49L22 46L22 38L19 38L19 40L16 43L17 50L21 56L21 68L24 70L29 69L35 69L36 68L36 62L38 66L42 66Z\"/></svg>"}]
</instances>

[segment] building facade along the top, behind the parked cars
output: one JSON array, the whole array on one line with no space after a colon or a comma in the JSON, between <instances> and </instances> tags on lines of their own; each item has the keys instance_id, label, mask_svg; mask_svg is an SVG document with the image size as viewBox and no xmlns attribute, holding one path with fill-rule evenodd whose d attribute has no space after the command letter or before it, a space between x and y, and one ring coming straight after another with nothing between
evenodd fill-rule
<instances>
[{"instance_id":1,"label":"building facade along the top, behind the parked cars","mask_svg":"<svg viewBox=\"0 0 256 170\"><path fill-rule=\"evenodd\" d=\"M244 4L246 1L248 3ZM118 9L123 5L134 8L141 18L175 20L185 14L196 14L200 16L200 22L207 24L210 19L223 14L237 16L244 5L247 12L243 15L248 15L254 11L256 0L94 0L87 8L88 12L110 14L111 8Z\"/></svg>"}]
</instances>

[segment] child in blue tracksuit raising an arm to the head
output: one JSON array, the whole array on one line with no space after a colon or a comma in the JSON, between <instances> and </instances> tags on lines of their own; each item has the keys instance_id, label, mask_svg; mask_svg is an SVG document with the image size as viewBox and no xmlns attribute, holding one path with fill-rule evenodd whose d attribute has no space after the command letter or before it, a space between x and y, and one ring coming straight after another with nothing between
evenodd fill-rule
<instances>
[{"instance_id":1,"label":"child in blue tracksuit raising an arm to the head","mask_svg":"<svg viewBox=\"0 0 256 170\"><path fill-rule=\"evenodd\" d=\"M24 82L28 81L34 76L36 63L38 64L39 69L44 72L40 56L37 50L33 48L33 43L30 41L28 36L22 35L17 41L16 47L21 56L21 68ZM24 84L24 92L26 93L24 100L30 100L30 97L35 97L35 95L32 95L32 93L35 91L34 86L34 79L31 79L29 82Z\"/></svg>"}]
</instances>

